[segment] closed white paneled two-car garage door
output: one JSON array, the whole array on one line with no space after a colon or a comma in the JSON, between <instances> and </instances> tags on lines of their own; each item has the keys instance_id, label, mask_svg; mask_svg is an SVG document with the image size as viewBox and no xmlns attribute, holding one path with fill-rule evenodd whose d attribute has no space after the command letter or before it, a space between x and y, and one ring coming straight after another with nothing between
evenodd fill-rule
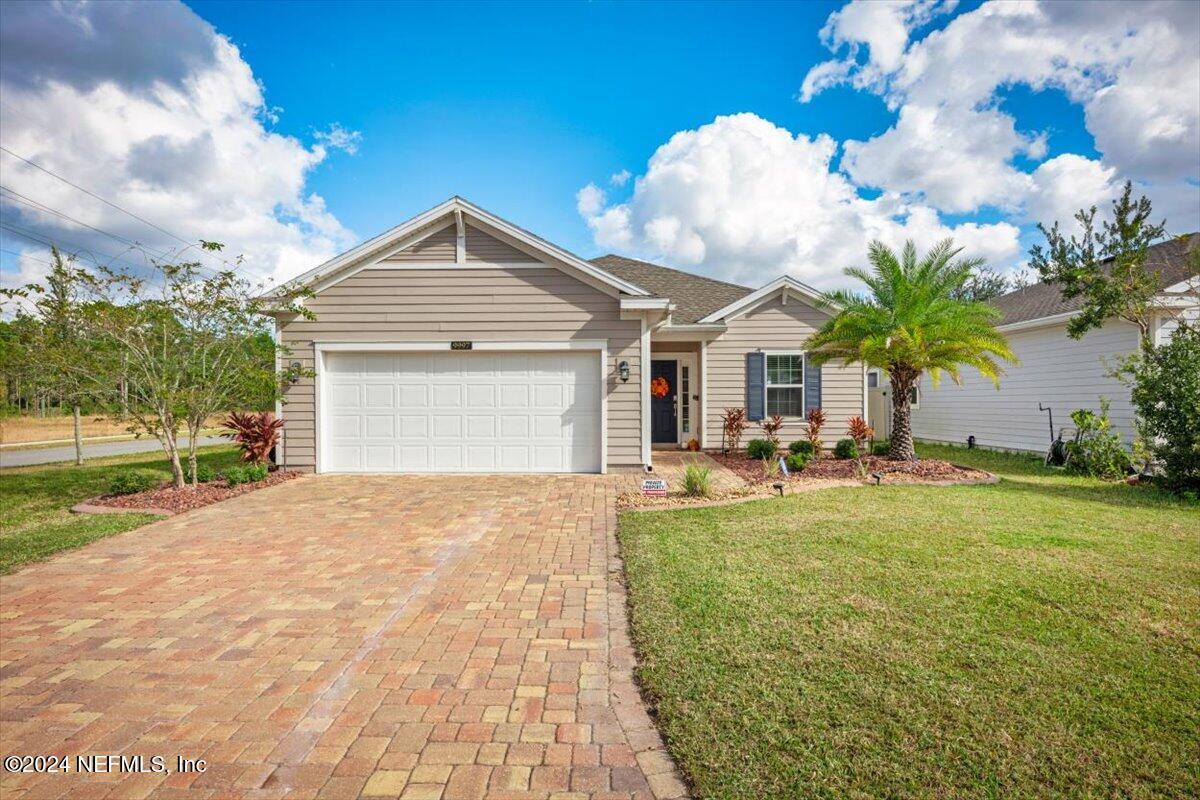
<instances>
[{"instance_id":1,"label":"closed white paneled two-car garage door","mask_svg":"<svg viewBox=\"0 0 1200 800\"><path fill-rule=\"evenodd\" d=\"M326 353L330 473L598 473L600 356Z\"/></svg>"}]
</instances>

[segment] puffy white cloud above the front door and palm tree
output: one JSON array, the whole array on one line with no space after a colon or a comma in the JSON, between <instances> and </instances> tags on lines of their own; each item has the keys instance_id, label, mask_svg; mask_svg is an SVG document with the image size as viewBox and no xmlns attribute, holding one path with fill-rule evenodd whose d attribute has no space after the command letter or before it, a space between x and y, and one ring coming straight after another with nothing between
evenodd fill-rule
<instances>
[{"instance_id":1,"label":"puffy white cloud above the front door and palm tree","mask_svg":"<svg viewBox=\"0 0 1200 800\"><path fill-rule=\"evenodd\" d=\"M578 209L601 247L748 285L784 272L844 284L842 267L863 264L872 239L929 247L953 236L991 261L1016 254L1013 224L952 227L895 194L859 197L830 168L836 150L827 136L792 136L754 114L719 116L661 145L629 201L606 205L588 185Z\"/></svg>"}]
</instances>

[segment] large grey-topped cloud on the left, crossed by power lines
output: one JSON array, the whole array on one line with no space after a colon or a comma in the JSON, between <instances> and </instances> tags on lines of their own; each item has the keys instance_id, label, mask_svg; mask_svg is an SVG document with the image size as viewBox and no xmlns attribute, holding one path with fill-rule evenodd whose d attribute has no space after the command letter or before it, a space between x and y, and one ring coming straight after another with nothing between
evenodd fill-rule
<instances>
[{"instance_id":1,"label":"large grey-topped cloud on the left, crossed by power lines","mask_svg":"<svg viewBox=\"0 0 1200 800\"><path fill-rule=\"evenodd\" d=\"M334 124L305 144L271 131L277 109L238 48L186 6L5 2L0 23L8 150L186 241L224 242L252 277L287 279L353 243L306 184L359 134ZM44 241L85 261L144 258L85 225L151 253L182 246L8 154L0 167L34 201L2 200L5 248L28 255L23 275L47 259Z\"/></svg>"}]
</instances>

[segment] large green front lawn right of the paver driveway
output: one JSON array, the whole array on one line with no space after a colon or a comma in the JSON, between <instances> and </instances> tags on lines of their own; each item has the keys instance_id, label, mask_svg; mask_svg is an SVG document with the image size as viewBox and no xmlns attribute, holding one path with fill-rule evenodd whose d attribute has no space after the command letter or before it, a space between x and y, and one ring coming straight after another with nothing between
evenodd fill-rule
<instances>
[{"instance_id":1,"label":"large green front lawn right of the paver driveway","mask_svg":"<svg viewBox=\"0 0 1200 800\"><path fill-rule=\"evenodd\" d=\"M1003 480L623 515L697 795L1200 795L1200 509L920 450Z\"/></svg>"}]
</instances>

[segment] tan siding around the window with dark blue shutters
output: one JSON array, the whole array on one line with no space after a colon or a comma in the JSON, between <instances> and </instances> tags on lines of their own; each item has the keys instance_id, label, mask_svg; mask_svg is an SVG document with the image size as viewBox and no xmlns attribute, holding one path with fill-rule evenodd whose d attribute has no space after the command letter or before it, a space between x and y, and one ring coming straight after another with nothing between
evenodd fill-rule
<instances>
[{"instance_id":1,"label":"tan siding around the window with dark blue shutters","mask_svg":"<svg viewBox=\"0 0 1200 800\"><path fill-rule=\"evenodd\" d=\"M721 414L726 408L745 408L745 356L751 350L803 350L804 341L827 319L822 311L796 297L787 305L779 299L758 306L730 321L728 330L708 344L708 419L710 447L721 444ZM846 435L846 420L863 414L863 369L829 362L821 369L821 408L828 422L821 438L830 447ZM804 435L805 423L798 419L784 422L784 441ZM748 438L758 434L756 425Z\"/></svg>"}]
</instances>

